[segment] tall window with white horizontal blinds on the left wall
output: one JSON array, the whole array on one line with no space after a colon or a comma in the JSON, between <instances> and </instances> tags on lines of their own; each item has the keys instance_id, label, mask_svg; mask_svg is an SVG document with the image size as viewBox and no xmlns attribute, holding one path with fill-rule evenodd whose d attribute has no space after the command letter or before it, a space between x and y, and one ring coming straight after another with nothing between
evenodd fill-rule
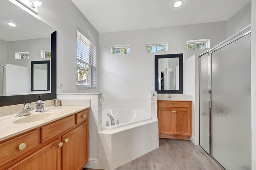
<instances>
[{"instance_id":1,"label":"tall window with white horizontal blinds on the left wall","mask_svg":"<svg viewBox=\"0 0 256 170\"><path fill-rule=\"evenodd\" d=\"M96 88L96 45L76 32L76 88Z\"/></svg>"}]
</instances>

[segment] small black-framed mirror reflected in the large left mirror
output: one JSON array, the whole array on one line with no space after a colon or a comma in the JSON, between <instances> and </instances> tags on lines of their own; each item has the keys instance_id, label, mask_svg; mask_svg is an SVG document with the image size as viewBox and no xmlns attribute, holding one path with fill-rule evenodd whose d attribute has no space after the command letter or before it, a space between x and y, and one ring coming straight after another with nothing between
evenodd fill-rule
<instances>
[{"instance_id":1,"label":"small black-framed mirror reflected in the large left mirror","mask_svg":"<svg viewBox=\"0 0 256 170\"><path fill-rule=\"evenodd\" d=\"M31 61L31 91L50 91L50 60Z\"/></svg>"}]
</instances>

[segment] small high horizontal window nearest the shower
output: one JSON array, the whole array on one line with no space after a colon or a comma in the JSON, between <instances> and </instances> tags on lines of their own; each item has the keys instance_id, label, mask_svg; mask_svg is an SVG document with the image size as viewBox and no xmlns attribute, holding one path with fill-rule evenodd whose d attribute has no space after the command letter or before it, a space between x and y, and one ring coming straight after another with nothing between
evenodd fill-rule
<instances>
[{"instance_id":1,"label":"small high horizontal window nearest the shower","mask_svg":"<svg viewBox=\"0 0 256 170\"><path fill-rule=\"evenodd\" d=\"M210 48L210 39L198 39L187 41L187 50Z\"/></svg>"}]
</instances>

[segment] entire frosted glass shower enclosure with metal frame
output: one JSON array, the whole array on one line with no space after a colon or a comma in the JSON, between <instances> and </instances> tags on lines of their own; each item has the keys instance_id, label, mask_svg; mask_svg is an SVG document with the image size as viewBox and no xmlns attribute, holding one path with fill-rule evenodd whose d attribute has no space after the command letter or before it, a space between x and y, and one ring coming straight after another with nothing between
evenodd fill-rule
<instances>
[{"instance_id":1,"label":"entire frosted glass shower enclosure with metal frame","mask_svg":"<svg viewBox=\"0 0 256 170\"><path fill-rule=\"evenodd\" d=\"M223 169L251 169L251 26L199 57L200 146Z\"/></svg>"}]
</instances>

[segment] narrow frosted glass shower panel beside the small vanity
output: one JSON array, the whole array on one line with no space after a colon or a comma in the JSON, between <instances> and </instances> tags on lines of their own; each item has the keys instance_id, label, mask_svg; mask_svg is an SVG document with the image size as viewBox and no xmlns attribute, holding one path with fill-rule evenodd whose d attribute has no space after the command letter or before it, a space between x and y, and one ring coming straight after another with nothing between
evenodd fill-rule
<instances>
[{"instance_id":1,"label":"narrow frosted glass shower panel beside the small vanity","mask_svg":"<svg viewBox=\"0 0 256 170\"><path fill-rule=\"evenodd\" d=\"M209 55L199 57L199 121L200 146L209 154Z\"/></svg>"}]
</instances>

